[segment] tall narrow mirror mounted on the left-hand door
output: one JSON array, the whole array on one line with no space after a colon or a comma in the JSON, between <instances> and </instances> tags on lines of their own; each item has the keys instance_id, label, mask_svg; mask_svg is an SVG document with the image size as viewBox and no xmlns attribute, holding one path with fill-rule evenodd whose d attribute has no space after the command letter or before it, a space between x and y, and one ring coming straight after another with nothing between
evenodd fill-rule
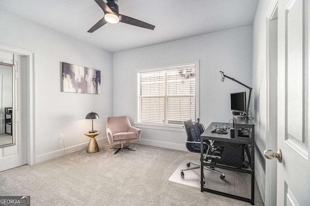
<instances>
[{"instance_id":1,"label":"tall narrow mirror mounted on the left-hand door","mask_svg":"<svg viewBox=\"0 0 310 206\"><path fill-rule=\"evenodd\" d=\"M13 65L0 63L0 147L15 145L14 78Z\"/></svg>"}]
</instances>

